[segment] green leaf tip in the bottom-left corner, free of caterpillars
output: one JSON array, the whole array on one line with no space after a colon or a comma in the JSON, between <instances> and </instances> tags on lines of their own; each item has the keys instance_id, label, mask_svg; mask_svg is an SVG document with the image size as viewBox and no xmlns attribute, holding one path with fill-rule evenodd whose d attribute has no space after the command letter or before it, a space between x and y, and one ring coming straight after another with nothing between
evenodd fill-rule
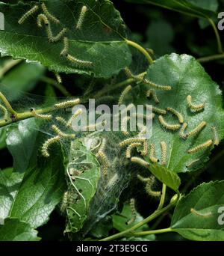
<instances>
[{"instance_id":1,"label":"green leaf tip in the bottom-left corner, free of caterpillars","mask_svg":"<svg viewBox=\"0 0 224 256\"><path fill-rule=\"evenodd\" d=\"M39 241L37 231L19 219L5 219L0 225L0 241Z\"/></svg>"}]
</instances>

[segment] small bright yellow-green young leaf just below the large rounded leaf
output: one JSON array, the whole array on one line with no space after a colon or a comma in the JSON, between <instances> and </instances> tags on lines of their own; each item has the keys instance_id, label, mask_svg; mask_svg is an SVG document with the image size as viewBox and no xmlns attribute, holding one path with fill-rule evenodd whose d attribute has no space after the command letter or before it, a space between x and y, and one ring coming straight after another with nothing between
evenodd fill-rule
<instances>
[{"instance_id":1,"label":"small bright yellow-green young leaf just below the large rounded leaf","mask_svg":"<svg viewBox=\"0 0 224 256\"><path fill-rule=\"evenodd\" d=\"M169 171L169 169L162 165L150 165L149 170L158 180L169 186L170 189L178 191L178 187L181 185L181 179L178 177L178 174Z\"/></svg>"}]
</instances>

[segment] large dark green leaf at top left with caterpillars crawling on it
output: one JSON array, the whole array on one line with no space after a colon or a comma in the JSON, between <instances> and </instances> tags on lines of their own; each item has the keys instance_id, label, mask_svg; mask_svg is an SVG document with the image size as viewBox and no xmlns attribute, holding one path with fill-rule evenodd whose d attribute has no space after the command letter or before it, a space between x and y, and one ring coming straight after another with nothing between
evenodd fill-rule
<instances>
[{"instance_id":1,"label":"large dark green leaf at top left with caterpillars crawling on it","mask_svg":"<svg viewBox=\"0 0 224 256\"><path fill-rule=\"evenodd\" d=\"M75 26L84 4L88 10L84 24L81 29L77 29ZM0 11L5 16L5 30L0 31L2 54L40 62L56 72L93 73L97 77L110 77L131 63L131 52L125 43L126 27L111 1L54 0L46 1L46 5L49 12L60 20L59 25L52 23L52 33L55 35L62 28L68 28L66 36L69 38L69 54L83 61L93 62L93 67L88 69L77 66L60 57L63 41L50 43L45 28L37 27L37 15L41 13L41 7L22 25L18 24L25 11L34 6L31 3L0 3Z\"/></svg>"}]
</instances>

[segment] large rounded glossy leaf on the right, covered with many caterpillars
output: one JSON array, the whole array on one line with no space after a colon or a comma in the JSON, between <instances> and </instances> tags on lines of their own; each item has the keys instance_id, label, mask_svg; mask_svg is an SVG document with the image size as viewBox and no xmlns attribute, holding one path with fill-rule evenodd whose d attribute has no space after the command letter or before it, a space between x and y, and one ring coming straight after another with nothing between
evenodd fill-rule
<instances>
[{"instance_id":1,"label":"large rounded glossy leaf on the right, covered with many caterpillars","mask_svg":"<svg viewBox=\"0 0 224 256\"><path fill-rule=\"evenodd\" d=\"M179 130L164 129L158 121L158 115L153 119L152 138L149 139L149 142L155 144L155 156L161 156L160 143L165 141L169 171L178 173L197 170L202 167L204 162L208 161L209 153L214 146L211 145L211 147L196 153L187 153L187 150L213 139L212 126L216 127L220 140L224 136L223 101L218 85L211 80L201 64L189 55L172 54L159 58L149 67L146 79L158 85L172 86L170 91L157 91L160 103L156 107L160 109L172 107L180 112L184 117L184 122L188 124L185 132L190 132L202 121L207 123L206 127L197 135L184 140L180 138ZM152 87L145 84L140 85L141 104L155 106L152 99L146 99L144 89L149 90L149 88ZM187 107L187 95L192 96L195 104L205 103L205 109L202 112L190 112ZM168 124L178 124L178 118L169 112L164 115L164 120Z\"/></svg>"}]
</instances>

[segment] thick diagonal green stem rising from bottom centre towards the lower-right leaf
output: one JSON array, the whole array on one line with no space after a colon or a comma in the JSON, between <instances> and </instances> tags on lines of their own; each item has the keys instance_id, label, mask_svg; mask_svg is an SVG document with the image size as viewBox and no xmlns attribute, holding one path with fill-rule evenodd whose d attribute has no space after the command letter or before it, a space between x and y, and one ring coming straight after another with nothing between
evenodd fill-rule
<instances>
[{"instance_id":1,"label":"thick diagonal green stem rising from bottom centre towards the lower-right leaf","mask_svg":"<svg viewBox=\"0 0 224 256\"><path fill-rule=\"evenodd\" d=\"M175 206L177 201L178 201L178 197L174 202L168 204L167 207L164 207L161 210L155 210L155 212L152 213L149 217L147 217L146 219L143 219L143 221L141 221L141 222L138 222L136 225L132 226L131 228L128 228L125 231L119 232L110 237L105 237L100 241L111 241L111 240L115 240L120 237L125 237L125 235L127 235L127 234L132 234L132 232L134 230L136 230L137 228L140 228L141 226L145 225L148 222L151 222L153 219L157 218L161 214L167 212L167 210L169 210L171 207Z\"/></svg>"}]
</instances>

